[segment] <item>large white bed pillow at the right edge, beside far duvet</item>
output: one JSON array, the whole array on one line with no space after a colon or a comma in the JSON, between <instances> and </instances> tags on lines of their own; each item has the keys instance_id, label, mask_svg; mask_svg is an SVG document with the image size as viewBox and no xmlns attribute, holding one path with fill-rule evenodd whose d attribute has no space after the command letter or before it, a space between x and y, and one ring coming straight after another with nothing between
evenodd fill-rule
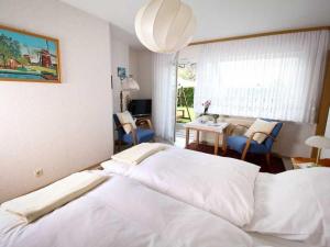
<instances>
[{"instance_id":1,"label":"large white bed pillow at the right edge, beside far duvet","mask_svg":"<svg viewBox=\"0 0 330 247\"><path fill-rule=\"evenodd\" d=\"M260 173L246 231L330 246L330 169Z\"/></svg>"}]
</instances>

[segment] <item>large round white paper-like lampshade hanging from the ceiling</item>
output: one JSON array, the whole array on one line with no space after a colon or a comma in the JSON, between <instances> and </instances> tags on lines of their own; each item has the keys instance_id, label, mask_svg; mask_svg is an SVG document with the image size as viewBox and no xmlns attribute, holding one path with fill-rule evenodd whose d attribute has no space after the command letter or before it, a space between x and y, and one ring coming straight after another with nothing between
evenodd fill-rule
<instances>
[{"instance_id":1,"label":"large round white paper-like lampshade hanging from the ceiling","mask_svg":"<svg viewBox=\"0 0 330 247\"><path fill-rule=\"evenodd\" d=\"M186 47L195 30L193 10L180 0L151 0L135 18L139 40L155 53L176 53Z\"/></svg>"}]
</instances>

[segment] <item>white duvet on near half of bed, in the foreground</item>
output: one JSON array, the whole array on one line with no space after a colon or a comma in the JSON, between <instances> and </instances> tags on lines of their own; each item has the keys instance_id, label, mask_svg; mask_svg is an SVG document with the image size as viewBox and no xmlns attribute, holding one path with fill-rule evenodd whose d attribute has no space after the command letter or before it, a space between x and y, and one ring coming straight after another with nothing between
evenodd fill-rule
<instances>
[{"instance_id":1,"label":"white duvet on near half of bed, in the foreground","mask_svg":"<svg viewBox=\"0 0 330 247\"><path fill-rule=\"evenodd\" d=\"M1 247L250 247L227 221L116 176L25 224L0 211Z\"/></svg>"}]
</instances>

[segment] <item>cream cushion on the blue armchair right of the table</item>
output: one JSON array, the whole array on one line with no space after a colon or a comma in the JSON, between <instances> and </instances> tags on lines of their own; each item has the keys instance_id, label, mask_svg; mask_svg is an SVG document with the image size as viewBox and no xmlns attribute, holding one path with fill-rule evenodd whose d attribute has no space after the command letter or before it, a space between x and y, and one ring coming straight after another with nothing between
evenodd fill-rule
<instances>
[{"instance_id":1,"label":"cream cushion on the blue armchair right of the table","mask_svg":"<svg viewBox=\"0 0 330 247\"><path fill-rule=\"evenodd\" d=\"M254 132L264 132L266 134L271 134L274 127L276 126L277 122L267 122L264 120L257 119L251 126L250 128L245 132L245 136L250 137ZM266 135L256 133L253 136L253 139L257 142L258 144L262 144L265 139L267 138Z\"/></svg>"}]
</instances>

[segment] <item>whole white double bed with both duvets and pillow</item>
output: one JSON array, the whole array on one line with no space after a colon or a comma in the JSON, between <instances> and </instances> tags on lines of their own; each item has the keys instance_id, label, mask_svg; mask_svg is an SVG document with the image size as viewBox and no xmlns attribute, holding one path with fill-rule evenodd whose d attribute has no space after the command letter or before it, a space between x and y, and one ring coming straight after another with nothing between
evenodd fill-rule
<instances>
[{"instance_id":1,"label":"whole white double bed with both duvets and pillow","mask_svg":"<svg viewBox=\"0 0 330 247\"><path fill-rule=\"evenodd\" d=\"M251 164L190 150L167 148L138 166L117 161L103 165L106 169L100 172L111 176L108 181L31 224L0 210L0 246L329 246L330 189L329 177L323 176L330 176L328 170L321 172L321 177L317 169L310 170L309 176L316 181L307 181L310 183L310 190L305 191L308 197L297 194L298 200L302 200L300 204L305 204L304 200L310 201L310 197L317 203L310 202L310 206L302 207L307 209L306 216L297 218L295 203L292 203L292 211L280 211L280 215L276 215L276 206L274 210L267 203L288 200L287 195L292 199L290 190L306 182L302 170L297 172L302 180L295 182L294 179L292 186L286 184L288 193L279 197L278 183L290 181L293 175L266 175L271 178L268 182L268 178ZM323 194L324 191L329 193ZM270 198L265 198L265 193ZM321 211L321 205L329 207ZM317 214L316 220L312 214L308 217L308 209L321 214ZM274 215L278 222L272 220ZM304 228L304 221L308 225L310 220L317 224ZM285 232L297 227L305 232Z\"/></svg>"}]
</instances>

